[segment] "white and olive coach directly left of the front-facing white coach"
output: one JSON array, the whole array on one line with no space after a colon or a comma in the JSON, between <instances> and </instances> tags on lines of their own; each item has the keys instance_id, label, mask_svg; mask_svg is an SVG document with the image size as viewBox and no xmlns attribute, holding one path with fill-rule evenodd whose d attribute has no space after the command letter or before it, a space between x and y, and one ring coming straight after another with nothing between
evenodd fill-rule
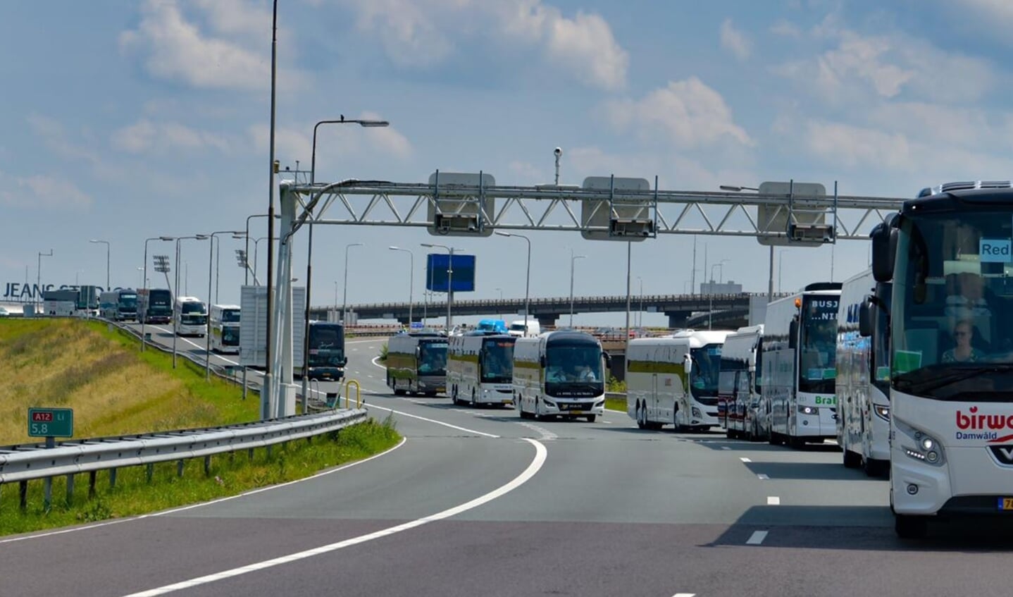
<instances>
[{"instance_id":1,"label":"white and olive coach directly left of the front-facing white coach","mask_svg":"<svg viewBox=\"0 0 1013 597\"><path fill-rule=\"evenodd\" d=\"M514 403L514 342L509 333L468 331L448 339L447 393L455 404Z\"/></svg>"}]
</instances>

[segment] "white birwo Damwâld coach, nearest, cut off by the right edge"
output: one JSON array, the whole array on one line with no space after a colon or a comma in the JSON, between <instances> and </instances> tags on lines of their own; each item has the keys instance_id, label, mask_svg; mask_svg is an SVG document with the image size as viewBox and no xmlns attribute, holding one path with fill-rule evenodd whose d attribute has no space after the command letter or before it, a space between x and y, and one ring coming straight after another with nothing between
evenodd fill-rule
<instances>
[{"instance_id":1,"label":"white birwo Damw\u00e2ld coach, nearest, cut off by the right edge","mask_svg":"<svg viewBox=\"0 0 1013 597\"><path fill-rule=\"evenodd\" d=\"M873 278L892 283L889 482L902 537L933 519L1013 511L1011 246L1009 181L927 189L872 231Z\"/></svg>"}]
</instances>

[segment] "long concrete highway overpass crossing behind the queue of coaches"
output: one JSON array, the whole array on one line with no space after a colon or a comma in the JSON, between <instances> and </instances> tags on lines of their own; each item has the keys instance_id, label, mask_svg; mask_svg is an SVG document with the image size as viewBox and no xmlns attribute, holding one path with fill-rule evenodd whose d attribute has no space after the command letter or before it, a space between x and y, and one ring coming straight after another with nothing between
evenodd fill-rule
<instances>
[{"instance_id":1,"label":"long concrete highway overpass crossing behind the queue of coaches","mask_svg":"<svg viewBox=\"0 0 1013 597\"><path fill-rule=\"evenodd\" d=\"M777 294L775 297L787 296ZM569 297L532 298L531 315L542 325L555 325L556 320L570 312ZM646 313L665 313L669 317L669 327L685 327L694 314L714 312L714 324L718 322L718 312L729 311L721 316L724 327L737 327L747 324L751 308L756 311L765 308L767 295L759 293L741 294L670 294L631 297L630 311ZM642 305L642 309L641 309ZM359 319L393 319L407 324L408 303L373 303L348 305L348 310ZM326 319L328 311L340 310L340 305L311 307L310 317ZM427 309L430 317L439 317L447 313L447 302L430 302ZM574 313L605 313L624 312L626 296L581 296L573 298ZM413 305L415 319L420 319L423 313L423 303ZM524 312L524 299L488 299L488 300L454 300L453 315L479 315L489 317L504 317L514 319L517 313ZM759 314L762 316L763 312ZM734 325L738 323L738 325Z\"/></svg>"}]
</instances>

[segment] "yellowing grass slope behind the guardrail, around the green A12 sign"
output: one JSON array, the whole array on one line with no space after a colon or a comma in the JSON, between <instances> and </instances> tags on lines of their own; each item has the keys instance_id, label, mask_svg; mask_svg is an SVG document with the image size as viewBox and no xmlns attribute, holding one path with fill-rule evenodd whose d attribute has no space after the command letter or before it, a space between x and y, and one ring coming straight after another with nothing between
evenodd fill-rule
<instances>
[{"instance_id":1,"label":"yellowing grass slope behind the guardrail, around the green A12 sign","mask_svg":"<svg viewBox=\"0 0 1013 597\"><path fill-rule=\"evenodd\" d=\"M79 438L257 419L256 397L179 363L96 321L0 321L0 445L38 441L27 436L29 406L74 408Z\"/></svg>"}]
</instances>

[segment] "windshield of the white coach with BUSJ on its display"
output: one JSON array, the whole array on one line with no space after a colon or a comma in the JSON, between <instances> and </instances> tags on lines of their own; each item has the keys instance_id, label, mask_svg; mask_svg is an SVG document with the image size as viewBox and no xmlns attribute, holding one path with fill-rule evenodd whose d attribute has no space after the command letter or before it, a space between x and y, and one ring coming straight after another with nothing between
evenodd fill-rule
<instances>
[{"instance_id":1,"label":"windshield of the white coach with BUSJ on its display","mask_svg":"<svg viewBox=\"0 0 1013 597\"><path fill-rule=\"evenodd\" d=\"M837 377L836 296L805 296L799 338L798 391L834 393Z\"/></svg>"}]
</instances>

